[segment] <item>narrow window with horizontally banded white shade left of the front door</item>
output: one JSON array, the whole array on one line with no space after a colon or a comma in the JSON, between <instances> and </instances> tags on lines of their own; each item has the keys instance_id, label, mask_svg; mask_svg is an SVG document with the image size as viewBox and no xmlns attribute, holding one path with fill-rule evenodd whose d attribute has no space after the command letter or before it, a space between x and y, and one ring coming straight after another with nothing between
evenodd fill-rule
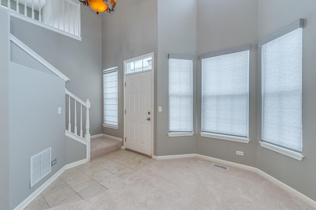
<instances>
[{"instance_id":1,"label":"narrow window with horizontally banded white shade left of the front door","mask_svg":"<svg viewBox=\"0 0 316 210\"><path fill-rule=\"evenodd\" d=\"M104 127L118 126L118 67L103 70Z\"/></svg>"}]
</instances>

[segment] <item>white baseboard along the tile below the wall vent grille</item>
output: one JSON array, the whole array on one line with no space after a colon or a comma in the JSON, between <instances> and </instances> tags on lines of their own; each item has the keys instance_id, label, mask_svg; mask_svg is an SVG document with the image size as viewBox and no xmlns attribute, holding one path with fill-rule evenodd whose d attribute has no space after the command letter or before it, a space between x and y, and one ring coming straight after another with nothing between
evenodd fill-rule
<instances>
[{"instance_id":1,"label":"white baseboard along the tile below the wall vent grille","mask_svg":"<svg viewBox=\"0 0 316 210\"><path fill-rule=\"evenodd\" d=\"M36 189L29 197L27 197L22 203L20 203L17 207L14 208L14 210L23 210L25 209L36 197L40 195L42 191L46 189L53 181L55 181L58 176L60 176L64 171L67 169L76 167L80 164L86 163L86 159L79 160L75 163L68 164L61 168L58 172L56 172L54 175L52 175L47 181L45 181L38 189Z\"/></svg>"}]
</instances>

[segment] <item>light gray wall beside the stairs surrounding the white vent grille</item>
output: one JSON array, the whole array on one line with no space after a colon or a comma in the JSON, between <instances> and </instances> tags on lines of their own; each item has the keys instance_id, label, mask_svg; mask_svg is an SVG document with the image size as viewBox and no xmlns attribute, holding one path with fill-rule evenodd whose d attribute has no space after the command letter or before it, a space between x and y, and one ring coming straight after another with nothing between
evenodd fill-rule
<instances>
[{"instance_id":1,"label":"light gray wall beside the stairs surrounding the white vent grille","mask_svg":"<svg viewBox=\"0 0 316 210\"><path fill-rule=\"evenodd\" d=\"M65 81L10 63L10 209L14 209L65 165ZM30 189L30 157L51 147L57 158L49 175Z\"/></svg>"}]
</instances>

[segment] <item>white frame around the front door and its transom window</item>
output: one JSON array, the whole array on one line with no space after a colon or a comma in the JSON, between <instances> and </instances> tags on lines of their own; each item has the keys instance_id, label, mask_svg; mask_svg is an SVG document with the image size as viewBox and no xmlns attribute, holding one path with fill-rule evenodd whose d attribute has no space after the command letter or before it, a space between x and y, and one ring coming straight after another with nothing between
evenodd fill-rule
<instances>
[{"instance_id":1,"label":"white frame around the front door and its transom window","mask_svg":"<svg viewBox=\"0 0 316 210\"><path fill-rule=\"evenodd\" d=\"M125 91L126 91L126 86L125 86L125 82L126 82L126 63L130 62L130 61L134 61L134 60L138 60L140 58L143 58L143 57L148 57L148 56L152 56L152 115L151 115L151 121L152 121L152 158L154 156L154 119L155 119L155 110L154 110L154 75L155 75L155 60L154 60L154 52L152 53L148 53L148 54L145 54L145 55L141 55L141 56L138 56L138 57L135 57L135 58L131 58L131 59L128 59L128 60L125 60L123 61L123 101L124 101L124 109L123 109L123 114L124 114L124 138L123 138L123 149L126 148L126 114L125 114L125 110L126 110L126 102L125 102ZM146 70L147 71L147 70ZM139 71L139 72L136 72L136 73L141 73L143 71Z\"/></svg>"}]
</instances>

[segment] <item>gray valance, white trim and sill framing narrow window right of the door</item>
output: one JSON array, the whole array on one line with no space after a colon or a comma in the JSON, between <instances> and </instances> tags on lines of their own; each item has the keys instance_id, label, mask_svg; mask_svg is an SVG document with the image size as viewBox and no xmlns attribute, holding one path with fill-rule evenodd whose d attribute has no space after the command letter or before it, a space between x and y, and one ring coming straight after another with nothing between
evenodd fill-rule
<instances>
[{"instance_id":1,"label":"gray valance, white trim and sill framing narrow window right of the door","mask_svg":"<svg viewBox=\"0 0 316 210\"><path fill-rule=\"evenodd\" d=\"M192 99L192 109L191 109L191 116L192 116L192 128L191 131L170 131L170 93L169 93L169 84L170 84L170 75L168 75L168 137L185 137L185 136L193 136L194 134L194 116L193 116L193 67L194 67L194 61L195 61L195 56L194 55L186 55L186 54L173 54L169 53L168 54L168 74L170 72L170 59L178 59L178 60L190 60L192 61L192 69L191 69L191 85L192 85L192 90L191 90L191 99Z\"/></svg>"}]
</instances>

